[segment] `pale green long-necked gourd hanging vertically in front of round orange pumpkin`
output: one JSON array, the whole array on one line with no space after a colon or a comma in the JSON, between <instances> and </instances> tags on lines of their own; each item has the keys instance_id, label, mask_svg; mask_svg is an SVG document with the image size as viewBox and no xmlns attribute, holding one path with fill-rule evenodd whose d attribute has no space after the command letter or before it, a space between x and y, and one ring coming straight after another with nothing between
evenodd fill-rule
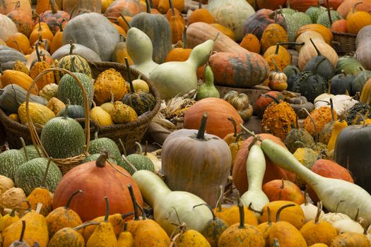
<instances>
[{"instance_id":1,"label":"pale green long-necked gourd hanging vertically in front of round orange pumpkin","mask_svg":"<svg viewBox=\"0 0 371 247\"><path fill-rule=\"evenodd\" d=\"M249 189L241 196L240 200L243 205L249 207L251 203L254 210L261 211L264 205L269 203L269 199L261 189L266 171L266 159L258 144L252 145L249 150L249 156L246 160L246 171ZM259 212L256 212L255 215L259 219Z\"/></svg>"}]
</instances>

